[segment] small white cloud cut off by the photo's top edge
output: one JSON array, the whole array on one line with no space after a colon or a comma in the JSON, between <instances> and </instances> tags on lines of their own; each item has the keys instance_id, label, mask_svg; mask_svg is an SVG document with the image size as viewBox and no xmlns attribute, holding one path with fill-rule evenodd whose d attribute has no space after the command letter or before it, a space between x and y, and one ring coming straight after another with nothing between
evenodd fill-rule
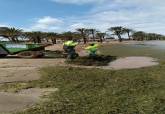
<instances>
[{"instance_id":1,"label":"small white cloud cut off by the photo's top edge","mask_svg":"<svg viewBox=\"0 0 165 114\"><path fill-rule=\"evenodd\" d=\"M87 3L103 3L106 0L51 0L57 3L65 4L87 4Z\"/></svg>"}]
</instances>

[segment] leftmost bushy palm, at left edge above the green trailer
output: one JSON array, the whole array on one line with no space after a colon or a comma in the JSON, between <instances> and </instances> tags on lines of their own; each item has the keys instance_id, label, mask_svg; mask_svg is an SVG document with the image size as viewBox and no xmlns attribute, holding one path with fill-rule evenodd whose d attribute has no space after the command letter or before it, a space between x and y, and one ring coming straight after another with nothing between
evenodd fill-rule
<instances>
[{"instance_id":1,"label":"leftmost bushy palm, at left edge above the green trailer","mask_svg":"<svg viewBox=\"0 0 165 114\"><path fill-rule=\"evenodd\" d=\"M0 30L1 36L4 36L9 39L9 41L12 42L19 42L18 37L22 35L22 30L21 29L16 29L16 28L7 28L3 27Z\"/></svg>"}]
</instances>

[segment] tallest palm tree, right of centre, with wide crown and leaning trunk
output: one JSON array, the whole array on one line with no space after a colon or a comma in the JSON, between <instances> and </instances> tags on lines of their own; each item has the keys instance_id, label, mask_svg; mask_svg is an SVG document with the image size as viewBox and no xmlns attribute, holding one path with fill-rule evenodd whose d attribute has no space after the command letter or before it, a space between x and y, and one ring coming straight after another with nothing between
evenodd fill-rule
<instances>
[{"instance_id":1,"label":"tallest palm tree, right of centre, with wide crown and leaning trunk","mask_svg":"<svg viewBox=\"0 0 165 114\"><path fill-rule=\"evenodd\" d=\"M117 35L119 42L122 42L121 35L123 34L123 27L121 26L111 27L108 30L113 32L113 34Z\"/></svg>"}]
</instances>

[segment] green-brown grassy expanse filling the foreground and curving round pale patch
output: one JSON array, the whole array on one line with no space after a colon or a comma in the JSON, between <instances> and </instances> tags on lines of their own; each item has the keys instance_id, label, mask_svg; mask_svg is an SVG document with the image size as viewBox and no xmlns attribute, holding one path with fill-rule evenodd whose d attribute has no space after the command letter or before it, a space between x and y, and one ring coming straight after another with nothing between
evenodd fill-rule
<instances>
[{"instance_id":1,"label":"green-brown grassy expanse filling the foreground and curving round pale patch","mask_svg":"<svg viewBox=\"0 0 165 114\"><path fill-rule=\"evenodd\" d=\"M159 66L134 70L72 67L41 69L30 87L58 88L49 100L17 114L165 114L165 53L146 46L104 46L103 54L117 57L151 56ZM26 85L27 86L27 85Z\"/></svg>"}]
</instances>

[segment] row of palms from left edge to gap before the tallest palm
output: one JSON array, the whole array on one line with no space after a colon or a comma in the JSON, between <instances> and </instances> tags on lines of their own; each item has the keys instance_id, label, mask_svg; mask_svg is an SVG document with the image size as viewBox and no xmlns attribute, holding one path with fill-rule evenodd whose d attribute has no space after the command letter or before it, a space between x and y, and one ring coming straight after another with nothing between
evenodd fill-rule
<instances>
[{"instance_id":1,"label":"row of palms from left edge to gap before the tallest palm","mask_svg":"<svg viewBox=\"0 0 165 114\"><path fill-rule=\"evenodd\" d=\"M63 32L63 33L55 33L55 32L41 32L41 31L32 31L32 32L24 32L21 29L17 28L7 28L0 27L0 36L8 39L11 42L34 42L34 43L42 43L42 42L52 42L53 44L57 43L57 39L60 40L68 40L68 39L77 39L81 40L84 43L88 41L100 41L103 42L103 39L106 36L106 33L96 31L96 29L85 29L80 28L76 29L76 32Z\"/></svg>"}]
</instances>

